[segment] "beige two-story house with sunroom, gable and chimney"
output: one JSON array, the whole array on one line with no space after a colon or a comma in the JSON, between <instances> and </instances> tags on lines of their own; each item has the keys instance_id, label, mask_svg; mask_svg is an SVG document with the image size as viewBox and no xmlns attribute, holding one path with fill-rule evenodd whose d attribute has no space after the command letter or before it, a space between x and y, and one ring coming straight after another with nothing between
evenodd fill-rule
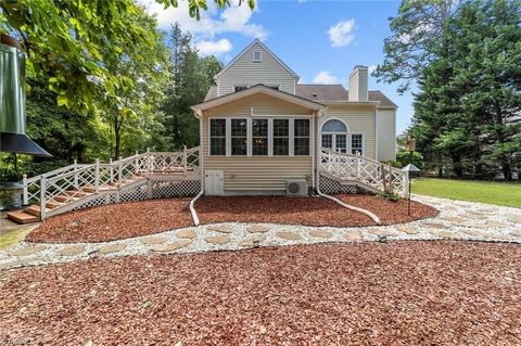
<instances>
[{"instance_id":1,"label":"beige two-story house with sunroom, gable and chimney","mask_svg":"<svg viewBox=\"0 0 521 346\"><path fill-rule=\"evenodd\" d=\"M192 107L206 194L287 193L291 181L307 192L319 181L323 150L395 158L396 105L368 90L368 67L353 68L348 90L298 79L259 40L215 76Z\"/></svg>"}]
</instances>

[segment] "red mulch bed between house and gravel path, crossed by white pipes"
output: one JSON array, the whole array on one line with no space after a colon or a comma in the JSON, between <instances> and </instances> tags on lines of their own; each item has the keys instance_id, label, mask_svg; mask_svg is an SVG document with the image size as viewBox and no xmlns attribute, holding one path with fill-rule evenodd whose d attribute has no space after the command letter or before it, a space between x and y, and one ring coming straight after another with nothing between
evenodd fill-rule
<instances>
[{"instance_id":1,"label":"red mulch bed between house and gravel path, crossed by white pipes","mask_svg":"<svg viewBox=\"0 0 521 346\"><path fill-rule=\"evenodd\" d=\"M389 223L433 217L437 210L412 202L383 201L369 195L338 196L367 208ZM149 200L88 208L51 217L27 235L30 242L103 242L193 226L189 198ZM230 196L202 197L195 204L201 223L268 222L281 225L358 227L374 222L364 214L319 197Z\"/></svg>"}]
</instances>

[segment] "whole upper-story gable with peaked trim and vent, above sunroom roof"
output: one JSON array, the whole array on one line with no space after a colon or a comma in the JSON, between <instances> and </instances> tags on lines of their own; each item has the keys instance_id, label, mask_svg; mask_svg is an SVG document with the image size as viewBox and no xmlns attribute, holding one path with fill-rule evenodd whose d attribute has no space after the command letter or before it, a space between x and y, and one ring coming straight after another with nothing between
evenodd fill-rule
<instances>
[{"instance_id":1,"label":"whole upper-story gable with peaked trim and vent, above sunroom roof","mask_svg":"<svg viewBox=\"0 0 521 346\"><path fill-rule=\"evenodd\" d=\"M217 97L256 85L295 94L298 79L300 77L258 39L215 75Z\"/></svg>"}]
</instances>

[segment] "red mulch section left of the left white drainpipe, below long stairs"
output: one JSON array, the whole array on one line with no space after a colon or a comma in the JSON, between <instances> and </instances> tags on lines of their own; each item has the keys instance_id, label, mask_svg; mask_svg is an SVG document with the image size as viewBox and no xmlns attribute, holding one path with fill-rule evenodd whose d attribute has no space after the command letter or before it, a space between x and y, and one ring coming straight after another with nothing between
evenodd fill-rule
<instances>
[{"instance_id":1,"label":"red mulch section left of the left white drainpipe, below long stairs","mask_svg":"<svg viewBox=\"0 0 521 346\"><path fill-rule=\"evenodd\" d=\"M47 219L26 240L45 243L105 242L193 226L190 198L127 202Z\"/></svg>"}]
</instances>

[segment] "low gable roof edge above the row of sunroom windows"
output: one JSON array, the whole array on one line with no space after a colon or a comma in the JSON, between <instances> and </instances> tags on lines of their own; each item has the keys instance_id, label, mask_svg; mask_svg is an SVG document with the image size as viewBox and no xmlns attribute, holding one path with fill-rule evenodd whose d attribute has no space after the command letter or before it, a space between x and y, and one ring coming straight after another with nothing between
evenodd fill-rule
<instances>
[{"instance_id":1,"label":"low gable roof edge above the row of sunroom windows","mask_svg":"<svg viewBox=\"0 0 521 346\"><path fill-rule=\"evenodd\" d=\"M309 108L309 110L313 110L313 111L317 111L317 112L323 112L327 108L326 105L323 105L321 103L318 103L316 101L308 100L308 99L305 99L305 98L301 98L298 95L294 95L292 93L288 93L288 92L284 92L284 91L275 90L275 89L268 88L264 85L256 85L254 87L251 87L251 88L247 88L247 89L244 89L244 90L241 90L241 91L228 93L228 94L223 95L223 97L218 97L218 98L214 98L214 99L207 99L203 103L200 103L200 104L196 104L196 105L192 106L192 110L195 111L195 113L198 115L200 115L201 111L206 111L206 110L209 110L212 107L215 107L215 106L228 103L228 102L237 101L237 100L240 100L242 98L246 98L246 97L254 95L254 94L257 94L257 93L264 93L264 94L280 99L282 101L291 102L291 103L294 103L294 104L297 104L297 105L301 105L303 107L306 107L306 108Z\"/></svg>"}]
</instances>

